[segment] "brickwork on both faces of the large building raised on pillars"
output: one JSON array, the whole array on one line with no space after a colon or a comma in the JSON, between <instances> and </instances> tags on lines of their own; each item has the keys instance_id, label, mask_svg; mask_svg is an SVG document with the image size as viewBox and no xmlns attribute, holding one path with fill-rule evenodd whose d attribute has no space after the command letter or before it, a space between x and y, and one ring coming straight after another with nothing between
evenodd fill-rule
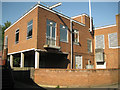
<instances>
[{"instance_id":1,"label":"brickwork on both faces of the large building raised on pillars","mask_svg":"<svg viewBox=\"0 0 120 90\"><path fill-rule=\"evenodd\" d=\"M27 40L27 23L33 19L33 35L32 38ZM69 54L68 59L71 59L71 36L70 36L70 20L48 10L42 9L40 7L35 8L28 15L19 20L11 28L5 32L5 36L8 35L8 53L18 52L26 49L41 49L44 50L44 45L46 44L46 20L52 20L57 24L57 46L61 47L62 52L67 52ZM93 37L88 31L89 28L89 18L84 16L85 26L73 22L73 29L79 30L79 42L80 45L73 45L73 55L83 56L83 68L85 68L85 60L90 59L93 64L94 52L87 52L87 39L93 41ZM68 43L59 42L60 40L60 24L67 25L68 31ZM15 31L19 28L19 43L15 44ZM94 44L93 50L94 51ZM75 65L75 57L73 56L73 65ZM70 65L68 66L70 67ZM75 68L75 66L74 66Z\"/></svg>"}]
</instances>

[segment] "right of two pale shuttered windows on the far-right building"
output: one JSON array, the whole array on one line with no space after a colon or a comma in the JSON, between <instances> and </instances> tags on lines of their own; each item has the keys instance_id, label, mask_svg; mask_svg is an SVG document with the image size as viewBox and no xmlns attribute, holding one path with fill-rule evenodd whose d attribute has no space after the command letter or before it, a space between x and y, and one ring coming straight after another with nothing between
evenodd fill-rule
<instances>
[{"instance_id":1,"label":"right of two pale shuttered windows on the far-right building","mask_svg":"<svg viewBox=\"0 0 120 90\"><path fill-rule=\"evenodd\" d=\"M109 48L118 47L117 33L108 34Z\"/></svg>"}]
</instances>

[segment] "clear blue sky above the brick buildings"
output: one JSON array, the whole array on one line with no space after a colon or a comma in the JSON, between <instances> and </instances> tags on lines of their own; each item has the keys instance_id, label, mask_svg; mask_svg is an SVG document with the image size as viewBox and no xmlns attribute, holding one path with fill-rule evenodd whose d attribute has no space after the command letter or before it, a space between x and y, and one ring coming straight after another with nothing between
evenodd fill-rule
<instances>
[{"instance_id":1,"label":"clear blue sky above the brick buildings","mask_svg":"<svg viewBox=\"0 0 120 90\"><path fill-rule=\"evenodd\" d=\"M37 2L2 2L2 25L6 21L14 23ZM44 2L51 6L58 2ZM41 2L42 5L44 5ZM115 15L118 14L118 2L91 2L92 17L95 27L116 24ZM88 2L62 2L56 7L60 13L72 17L86 13L89 15Z\"/></svg>"}]
</instances>

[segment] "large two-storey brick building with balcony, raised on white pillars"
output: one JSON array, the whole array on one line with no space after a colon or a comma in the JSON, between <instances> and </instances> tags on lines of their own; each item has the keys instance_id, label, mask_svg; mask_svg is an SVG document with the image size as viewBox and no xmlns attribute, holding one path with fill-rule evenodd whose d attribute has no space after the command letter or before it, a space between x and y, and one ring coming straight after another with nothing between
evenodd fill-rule
<instances>
[{"instance_id":1,"label":"large two-storey brick building with balcony, raised on white pillars","mask_svg":"<svg viewBox=\"0 0 120 90\"><path fill-rule=\"evenodd\" d=\"M11 67L94 68L86 14L70 18L37 4L5 30L4 41Z\"/></svg>"}]
</instances>

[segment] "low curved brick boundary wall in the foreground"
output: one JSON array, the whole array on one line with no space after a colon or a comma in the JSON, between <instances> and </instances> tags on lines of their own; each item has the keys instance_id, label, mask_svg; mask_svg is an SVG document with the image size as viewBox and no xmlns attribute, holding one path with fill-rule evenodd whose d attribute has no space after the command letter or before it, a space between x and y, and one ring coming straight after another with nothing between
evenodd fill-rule
<instances>
[{"instance_id":1,"label":"low curved brick boundary wall in the foreground","mask_svg":"<svg viewBox=\"0 0 120 90\"><path fill-rule=\"evenodd\" d=\"M39 85L93 87L117 84L120 69L35 69L34 81Z\"/></svg>"}]
</instances>

